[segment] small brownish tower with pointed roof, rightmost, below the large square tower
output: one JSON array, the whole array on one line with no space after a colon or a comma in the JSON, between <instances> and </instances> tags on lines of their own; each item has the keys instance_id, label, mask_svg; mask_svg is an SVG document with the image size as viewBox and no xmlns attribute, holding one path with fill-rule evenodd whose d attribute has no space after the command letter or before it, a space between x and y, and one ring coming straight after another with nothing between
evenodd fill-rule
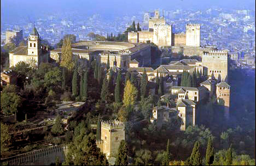
<instances>
[{"instance_id":1,"label":"small brownish tower with pointed roof, rightmost, below the large square tower","mask_svg":"<svg viewBox=\"0 0 256 166\"><path fill-rule=\"evenodd\" d=\"M224 105L224 116L229 118L230 85L226 82L220 82L216 86L216 96L218 103Z\"/></svg>"}]
</instances>

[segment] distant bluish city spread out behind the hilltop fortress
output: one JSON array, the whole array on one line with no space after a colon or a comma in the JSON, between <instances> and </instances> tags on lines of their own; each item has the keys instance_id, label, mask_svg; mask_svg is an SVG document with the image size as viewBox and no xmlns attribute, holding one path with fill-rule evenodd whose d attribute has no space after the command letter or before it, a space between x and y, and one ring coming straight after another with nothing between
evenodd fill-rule
<instances>
[{"instance_id":1,"label":"distant bluish city spread out behind the hilltop fortress","mask_svg":"<svg viewBox=\"0 0 256 166\"><path fill-rule=\"evenodd\" d=\"M255 55L255 12L252 10L160 10L168 23L173 25L173 32L185 32L187 23L201 24L201 45L215 45L218 49L229 49ZM153 11L153 9L152 9ZM67 16L68 15L68 16ZM75 16L75 17L74 17ZM74 21L75 20L75 21ZM23 36L28 37L33 25L37 27L42 39L46 39L53 46L65 34L74 34L77 40L89 40L88 33L107 37L107 34L123 33L131 23L143 23L143 12L136 15L116 16L113 20L103 19L101 15L94 14L83 17L79 13L70 12L65 16L49 15L48 17L34 20L34 22L3 23L1 27L1 44L5 40L5 31L22 30Z\"/></svg>"}]
</instances>

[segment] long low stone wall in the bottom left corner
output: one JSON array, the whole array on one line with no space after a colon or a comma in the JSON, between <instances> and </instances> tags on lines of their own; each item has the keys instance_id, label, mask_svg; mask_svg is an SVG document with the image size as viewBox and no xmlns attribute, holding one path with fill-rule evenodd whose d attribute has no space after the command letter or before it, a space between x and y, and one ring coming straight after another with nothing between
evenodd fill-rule
<instances>
[{"instance_id":1,"label":"long low stone wall in the bottom left corner","mask_svg":"<svg viewBox=\"0 0 256 166\"><path fill-rule=\"evenodd\" d=\"M56 157L60 162L65 161L66 146L54 146L46 149L36 150L21 155L1 159L1 165L50 165L55 163Z\"/></svg>"}]
</instances>

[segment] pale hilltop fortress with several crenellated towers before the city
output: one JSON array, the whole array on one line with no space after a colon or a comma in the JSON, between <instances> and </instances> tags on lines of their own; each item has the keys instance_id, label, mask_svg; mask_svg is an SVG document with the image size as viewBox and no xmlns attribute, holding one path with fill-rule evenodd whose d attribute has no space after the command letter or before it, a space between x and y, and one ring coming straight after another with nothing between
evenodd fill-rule
<instances>
[{"instance_id":1,"label":"pale hilltop fortress with several crenellated towers before the city","mask_svg":"<svg viewBox=\"0 0 256 166\"><path fill-rule=\"evenodd\" d=\"M173 53L182 52L184 55L202 56L203 52L217 50L214 46L200 46L200 28L198 23L187 24L185 33L173 33L172 25L166 23L159 11L144 13L143 31L129 32L128 41L131 43L146 43L151 41L159 47L170 47Z\"/></svg>"}]
</instances>

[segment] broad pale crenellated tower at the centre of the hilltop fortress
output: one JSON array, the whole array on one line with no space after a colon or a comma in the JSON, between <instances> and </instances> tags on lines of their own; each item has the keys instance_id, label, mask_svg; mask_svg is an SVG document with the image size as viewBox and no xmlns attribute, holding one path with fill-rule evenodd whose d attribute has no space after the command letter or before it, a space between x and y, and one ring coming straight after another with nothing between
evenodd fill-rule
<instances>
[{"instance_id":1,"label":"broad pale crenellated tower at the centre of the hilltop fortress","mask_svg":"<svg viewBox=\"0 0 256 166\"><path fill-rule=\"evenodd\" d=\"M153 42L158 46L172 45L172 25L154 25Z\"/></svg>"}]
</instances>

